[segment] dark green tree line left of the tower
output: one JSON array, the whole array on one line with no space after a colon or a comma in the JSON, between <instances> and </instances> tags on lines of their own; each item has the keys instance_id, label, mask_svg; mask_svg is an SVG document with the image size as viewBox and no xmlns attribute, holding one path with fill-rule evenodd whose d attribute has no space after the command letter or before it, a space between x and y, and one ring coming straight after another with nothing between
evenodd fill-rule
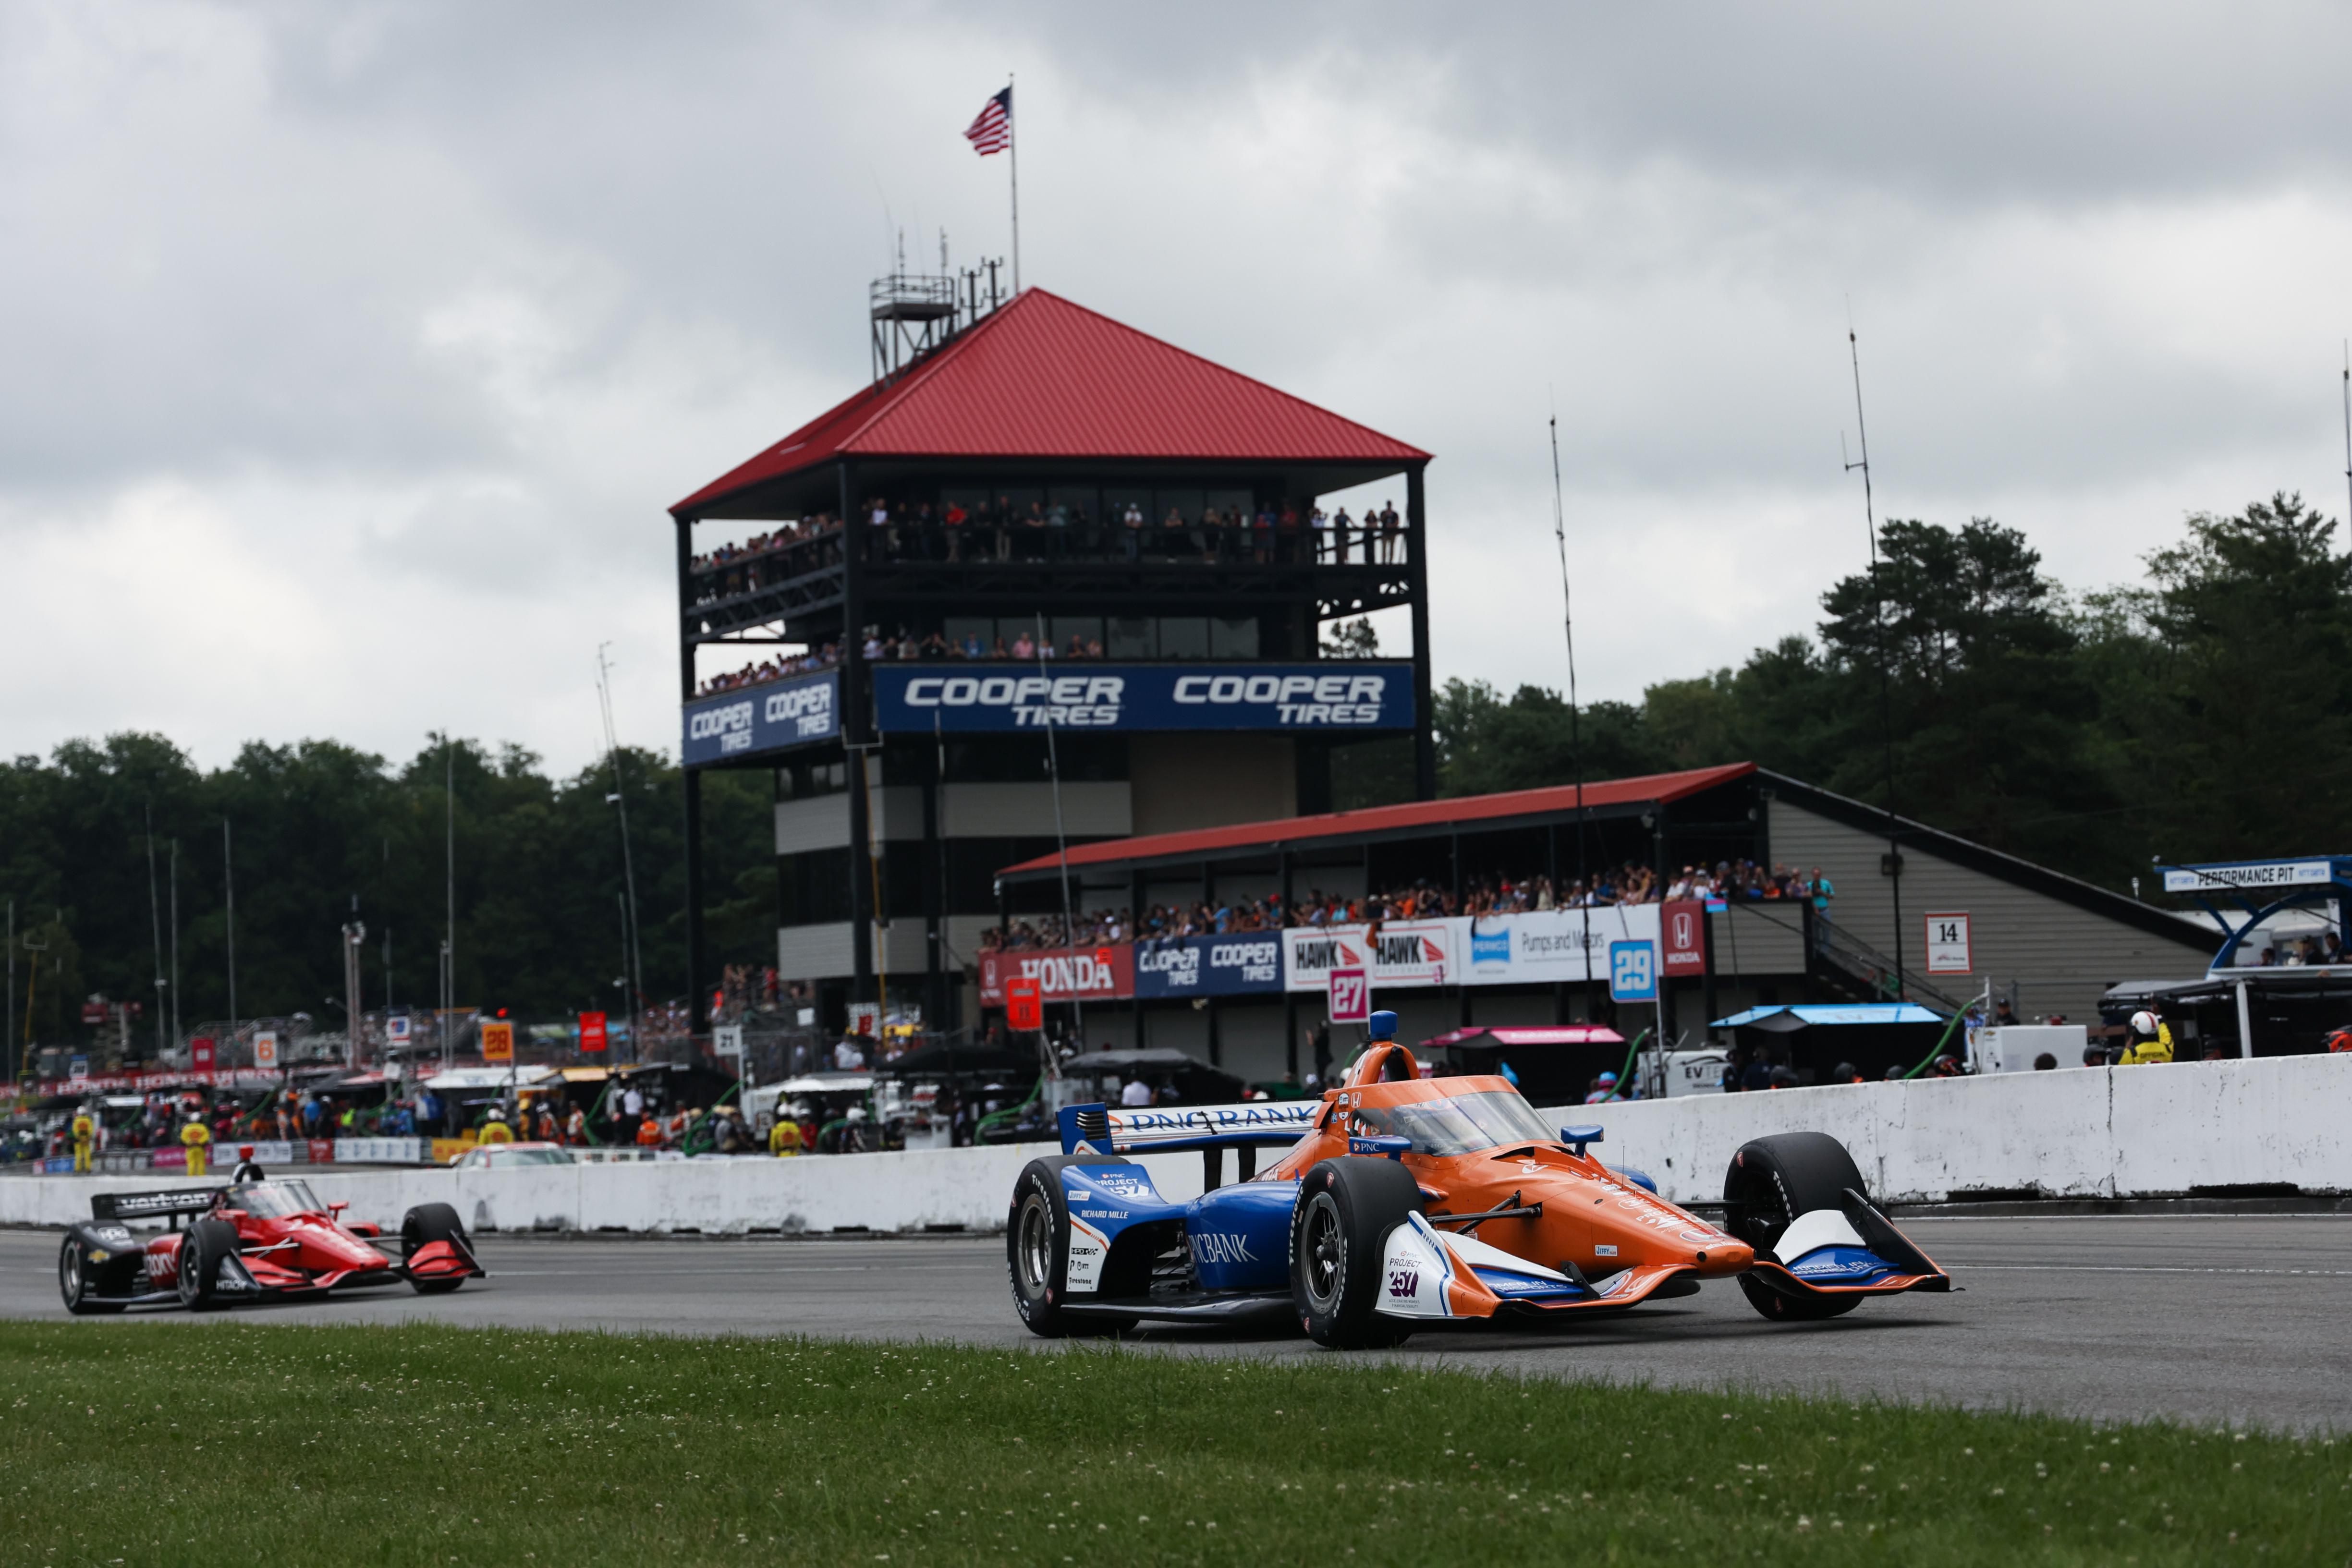
<instances>
[{"instance_id":1,"label":"dark green tree line left of the tower","mask_svg":"<svg viewBox=\"0 0 2352 1568\"><path fill-rule=\"evenodd\" d=\"M673 1001L687 985L680 773L644 750L623 750L619 773L644 990L649 1001ZM143 1004L134 1041L155 1039L155 933L169 973L174 844L186 1027L228 1016L230 865L240 1016L301 1011L339 1030L339 943L353 917L367 926L362 1006L381 1009L388 994L433 1006L452 804L459 1004L539 1018L623 1013L614 792L609 762L553 778L520 748L440 738L407 764L303 741L252 743L205 771L148 733L68 741L47 762L16 757L0 769L0 896L14 900L19 929L9 1037L24 1039L31 1004L33 1039L80 1041L82 997L106 994ZM762 771L713 773L703 785L710 964L771 961L771 811Z\"/></svg>"}]
</instances>

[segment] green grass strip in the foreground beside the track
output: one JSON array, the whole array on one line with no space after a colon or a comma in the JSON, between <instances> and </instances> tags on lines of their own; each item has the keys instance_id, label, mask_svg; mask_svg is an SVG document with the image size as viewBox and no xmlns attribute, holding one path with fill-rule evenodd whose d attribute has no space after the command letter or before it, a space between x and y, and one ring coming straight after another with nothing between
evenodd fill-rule
<instances>
[{"instance_id":1,"label":"green grass strip in the foreground beside the track","mask_svg":"<svg viewBox=\"0 0 2352 1568\"><path fill-rule=\"evenodd\" d=\"M2336 1439L1348 1356L0 1324L0 1561L47 1568L2352 1552Z\"/></svg>"}]
</instances>

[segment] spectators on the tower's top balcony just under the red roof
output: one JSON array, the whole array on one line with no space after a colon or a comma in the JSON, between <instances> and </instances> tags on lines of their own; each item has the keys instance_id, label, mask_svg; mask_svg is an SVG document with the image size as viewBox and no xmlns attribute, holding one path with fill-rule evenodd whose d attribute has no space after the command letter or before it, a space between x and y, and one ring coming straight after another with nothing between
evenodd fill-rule
<instances>
[{"instance_id":1,"label":"spectators on the tower's top balcony just under the red roof","mask_svg":"<svg viewBox=\"0 0 2352 1568\"><path fill-rule=\"evenodd\" d=\"M1094 491L1087 491L1094 494ZM882 555L901 562L1035 562L1035 559L1197 559L1209 564L1310 564L1399 562L1406 524L1395 501L1327 512L1315 501L1261 501L1197 510L1164 508L1157 517L1141 498L1021 501L1000 494L985 501L908 503L870 498L858 517L880 538ZM788 557L788 559L786 559ZM786 522L739 545L696 555L689 574L701 578L696 602L727 599L767 588L840 559L840 520L828 512Z\"/></svg>"}]
</instances>

